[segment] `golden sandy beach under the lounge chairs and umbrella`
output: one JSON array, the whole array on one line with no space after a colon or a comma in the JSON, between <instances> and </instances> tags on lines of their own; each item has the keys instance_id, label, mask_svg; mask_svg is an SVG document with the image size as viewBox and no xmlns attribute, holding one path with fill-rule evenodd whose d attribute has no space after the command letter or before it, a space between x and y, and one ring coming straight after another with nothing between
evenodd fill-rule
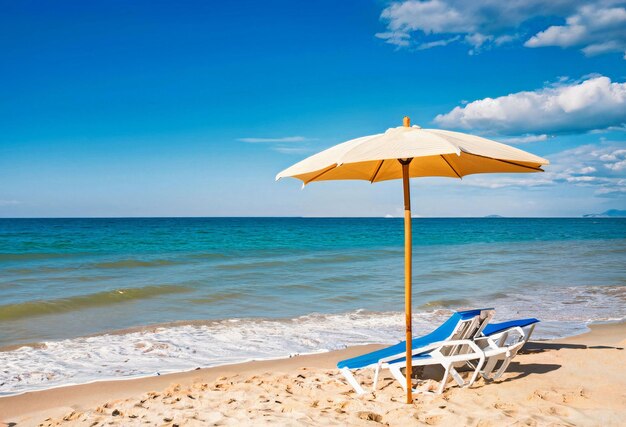
<instances>
[{"instance_id":1,"label":"golden sandy beach under the lounge chairs and umbrella","mask_svg":"<svg viewBox=\"0 0 626 427\"><path fill-rule=\"evenodd\" d=\"M377 348L364 346L4 397L0 425L625 425L625 338L615 324L531 342L501 380L450 384L413 405L389 375L361 397L342 381L335 363Z\"/></svg>"}]
</instances>

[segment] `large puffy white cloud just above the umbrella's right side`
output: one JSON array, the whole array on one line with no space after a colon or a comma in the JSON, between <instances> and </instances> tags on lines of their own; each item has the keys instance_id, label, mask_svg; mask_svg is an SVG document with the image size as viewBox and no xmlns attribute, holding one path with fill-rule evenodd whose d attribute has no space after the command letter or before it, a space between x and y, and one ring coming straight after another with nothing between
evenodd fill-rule
<instances>
[{"instance_id":1,"label":"large puffy white cloud just above the umbrella's right side","mask_svg":"<svg viewBox=\"0 0 626 427\"><path fill-rule=\"evenodd\" d=\"M484 98L435 117L443 127L501 135L588 132L626 123L626 83L604 76Z\"/></svg>"}]
</instances>

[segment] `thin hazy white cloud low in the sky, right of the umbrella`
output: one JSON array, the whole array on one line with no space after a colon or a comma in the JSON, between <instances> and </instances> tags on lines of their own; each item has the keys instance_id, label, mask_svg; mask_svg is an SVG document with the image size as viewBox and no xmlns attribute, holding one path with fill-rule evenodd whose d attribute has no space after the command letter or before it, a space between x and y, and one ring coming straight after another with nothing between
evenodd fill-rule
<instances>
[{"instance_id":1,"label":"thin hazy white cloud low in the sky, right of the umbrella","mask_svg":"<svg viewBox=\"0 0 626 427\"><path fill-rule=\"evenodd\" d=\"M529 176L471 176L465 184L483 188L587 187L598 197L626 196L626 142L582 145L548 156L550 166Z\"/></svg>"}]
</instances>

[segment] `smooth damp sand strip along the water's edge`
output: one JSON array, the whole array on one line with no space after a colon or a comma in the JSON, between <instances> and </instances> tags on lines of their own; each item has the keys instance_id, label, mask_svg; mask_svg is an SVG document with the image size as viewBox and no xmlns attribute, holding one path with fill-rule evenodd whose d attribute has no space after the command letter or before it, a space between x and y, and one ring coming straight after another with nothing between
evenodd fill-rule
<instances>
[{"instance_id":1,"label":"smooth damp sand strip along the water's edge","mask_svg":"<svg viewBox=\"0 0 626 427\"><path fill-rule=\"evenodd\" d=\"M592 324L589 325L589 328L590 331L588 332L563 339L531 341L526 346L526 352L532 353L533 349L538 347L551 348L563 344L576 344L572 347L588 352L589 349L594 347L599 349L606 347L607 339L617 340L617 343L624 344L626 322ZM87 384L59 386L46 390L25 392L19 395L4 396L0 398L0 421L8 423L19 420L20 424L18 425L38 424L38 422L48 417L62 416L65 413L76 410L86 410L87 408L101 405L103 402L131 399L152 390L165 389L173 383L180 387L190 387L198 381L210 382L224 376L250 376L265 372L294 372L302 368L336 371L336 362L338 360L381 347L381 345L375 344L352 346L343 350L311 355L228 364L157 376L100 380ZM619 348L619 346L613 348ZM592 355L590 354L590 356ZM516 361L523 357L525 355L520 354ZM618 374L624 377L624 372L618 372ZM469 392L471 393L471 391Z\"/></svg>"}]
</instances>

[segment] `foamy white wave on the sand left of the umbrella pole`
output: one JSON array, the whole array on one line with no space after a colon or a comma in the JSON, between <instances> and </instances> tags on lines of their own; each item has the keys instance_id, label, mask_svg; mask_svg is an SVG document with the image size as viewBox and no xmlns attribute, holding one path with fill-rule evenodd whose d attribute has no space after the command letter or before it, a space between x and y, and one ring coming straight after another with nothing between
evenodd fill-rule
<instances>
[{"instance_id":1,"label":"foamy white wave on the sand left of the umbrella pole","mask_svg":"<svg viewBox=\"0 0 626 427\"><path fill-rule=\"evenodd\" d=\"M0 352L0 395L388 342L402 319L364 311L227 319L45 342Z\"/></svg>"}]
</instances>

